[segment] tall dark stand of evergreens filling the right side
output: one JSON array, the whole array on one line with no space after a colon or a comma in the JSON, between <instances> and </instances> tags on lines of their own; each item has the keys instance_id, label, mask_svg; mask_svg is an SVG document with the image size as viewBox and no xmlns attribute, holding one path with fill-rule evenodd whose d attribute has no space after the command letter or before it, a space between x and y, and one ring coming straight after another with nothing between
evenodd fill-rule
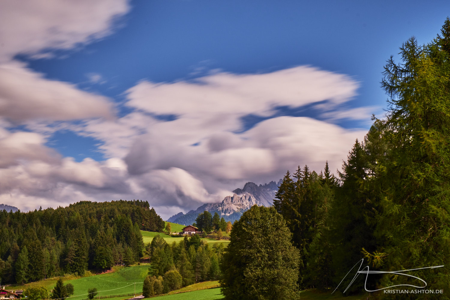
<instances>
[{"instance_id":1,"label":"tall dark stand of evergreens filling the right side","mask_svg":"<svg viewBox=\"0 0 450 300\"><path fill-rule=\"evenodd\" d=\"M334 289L364 258L383 271L444 265L414 276L426 278L428 289L449 292L450 19L428 45L411 38L400 50L402 62L388 60L382 81L391 97L387 117L374 118L364 140L356 140L338 178L328 164L321 174L299 167L276 194L275 208L300 250L302 287ZM370 275L368 288L417 285L414 280ZM361 278L348 291L363 286Z\"/></svg>"}]
</instances>

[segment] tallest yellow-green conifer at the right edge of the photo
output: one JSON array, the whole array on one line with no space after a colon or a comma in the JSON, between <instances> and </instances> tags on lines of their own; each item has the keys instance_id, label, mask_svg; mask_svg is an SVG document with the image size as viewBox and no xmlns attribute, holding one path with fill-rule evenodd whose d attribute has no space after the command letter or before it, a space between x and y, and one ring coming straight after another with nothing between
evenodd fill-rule
<instances>
[{"instance_id":1,"label":"tallest yellow-green conifer at the right edge of the photo","mask_svg":"<svg viewBox=\"0 0 450 300\"><path fill-rule=\"evenodd\" d=\"M383 269L444 267L414 272L427 288L450 291L450 19L441 35L425 46L414 38L401 48L400 64L392 57L383 88L391 96L378 138L387 145L375 169L380 199L376 234L383 246L368 253ZM401 278L402 283L413 278ZM383 285L399 282L385 276ZM394 295L392 297L395 297ZM410 297L405 295L403 299ZM414 299L427 297L416 295Z\"/></svg>"}]
</instances>

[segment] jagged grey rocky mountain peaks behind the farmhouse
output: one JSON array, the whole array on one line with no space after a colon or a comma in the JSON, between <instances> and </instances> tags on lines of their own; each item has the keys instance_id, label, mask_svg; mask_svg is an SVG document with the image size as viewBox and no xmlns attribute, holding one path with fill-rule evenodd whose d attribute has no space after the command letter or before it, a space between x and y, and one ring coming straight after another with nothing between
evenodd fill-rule
<instances>
[{"instance_id":1,"label":"jagged grey rocky mountain peaks behind the farmhouse","mask_svg":"<svg viewBox=\"0 0 450 300\"><path fill-rule=\"evenodd\" d=\"M234 222L241 217L244 211L255 204L266 207L272 206L275 193L277 193L281 182L282 179L278 183L270 181L268 184L260 184L259 186L252 182L247 182L242 189L236 188L233 191L234 195L225 197L221 203L205 203L196 210L190 210L186 214L180 212L172 215L167 219L167 222L190 225L195 222L198 214L205 210L209 211L211 215L217 212L225 221Z\"/></svg>"}]
</instances>

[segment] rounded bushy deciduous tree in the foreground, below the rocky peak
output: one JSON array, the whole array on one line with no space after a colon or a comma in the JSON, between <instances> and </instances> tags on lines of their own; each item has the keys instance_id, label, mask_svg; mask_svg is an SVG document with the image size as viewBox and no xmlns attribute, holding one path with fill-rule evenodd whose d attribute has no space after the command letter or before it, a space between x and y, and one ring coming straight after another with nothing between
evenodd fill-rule
<instances>
[{"instance_id":1,"label":"rounded bushy deciduous tree in the foreground, below the rocky peak","mask_svg":"<svg viewBox=\"0 0 450 300\"><path fill-rule=\"evenodd\" d=\"M300 255L274 207L252 206L231 231L220 281L225 299L294 299Z\"/></svg>"}]
</instances>

